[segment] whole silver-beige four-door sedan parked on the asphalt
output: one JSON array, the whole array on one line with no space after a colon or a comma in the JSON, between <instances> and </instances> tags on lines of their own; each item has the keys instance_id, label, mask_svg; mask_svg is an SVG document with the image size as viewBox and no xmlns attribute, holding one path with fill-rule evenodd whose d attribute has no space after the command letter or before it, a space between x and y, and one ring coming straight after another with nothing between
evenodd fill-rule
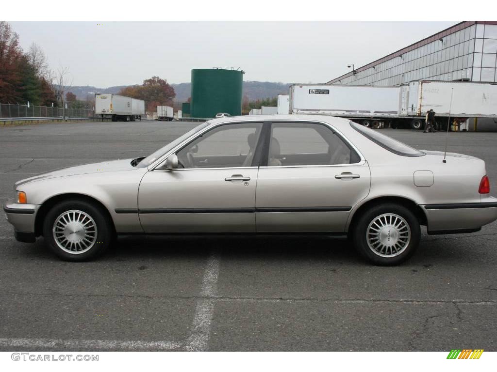
<instances>
[{"instance_id":1,"label":"whole silver-beige four-door sedan parked on the asphalt","mask_svg":"<svg viewBox=\"0 0 497 372\"><path fill-rule=\"evenodd\" d=\"M393 265L421 225L469 233L497 219L484 161L324 116L214 119L145 158L41 174L15 192L3 209L17 240L43 236L70 261L119 234L327 233Z\"/></svg>"}]
</instances>

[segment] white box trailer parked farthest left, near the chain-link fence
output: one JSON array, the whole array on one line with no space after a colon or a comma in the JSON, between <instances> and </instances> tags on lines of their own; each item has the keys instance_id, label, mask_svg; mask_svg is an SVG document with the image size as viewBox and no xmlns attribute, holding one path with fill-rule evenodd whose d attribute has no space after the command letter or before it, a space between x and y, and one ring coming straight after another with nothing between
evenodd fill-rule
<instances>
[{"instance_id":1,"label":"white box trailer parked farthest left, near the chain-link fence","mask_svg":"<svg viewBox=\"0 0 497 372\"><path fill-rule=\"evenodd\" d=\"M130 122L145 115L145 102L118 94L95 94L95 115L113 122Z\"/></svg>"}]
</instances>

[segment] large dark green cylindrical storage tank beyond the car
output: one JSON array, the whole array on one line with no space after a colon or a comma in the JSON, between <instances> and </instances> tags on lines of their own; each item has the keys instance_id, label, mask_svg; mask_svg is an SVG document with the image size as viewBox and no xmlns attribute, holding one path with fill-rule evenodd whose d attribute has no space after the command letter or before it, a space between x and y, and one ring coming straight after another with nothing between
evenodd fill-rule
<instances>
[{"instance_id":1,"label":"large dark green cylindrical storage tank beyond the car","mask_svg":"<svg viewBox=\"0 0 497 372\"><path fill-rule=\"evenodd\" d=\"M191 70L192 118L214 118L217 113L242 115L243 74L221 68Z\"/></svg>"}]
</instances>

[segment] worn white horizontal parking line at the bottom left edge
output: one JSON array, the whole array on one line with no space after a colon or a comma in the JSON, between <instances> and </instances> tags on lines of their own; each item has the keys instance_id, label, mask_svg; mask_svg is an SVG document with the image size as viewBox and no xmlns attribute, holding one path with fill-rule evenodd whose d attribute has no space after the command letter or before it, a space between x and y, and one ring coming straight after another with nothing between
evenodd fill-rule
<instances>
[{"instance_id":1,"label":"worn white horizontal parking line at the bottom left edge","mask_svg":"<svg viewBox=\"0 0 497 372\"><path fill-rule=\"evenodd\" d=\"M119 341L119 340L55 340L48 338L0 338L0 347L12 348L67 348L67 349L128 349L128 350L175 350L176 342L166 341Z\"/></svg>"}]
</instances>

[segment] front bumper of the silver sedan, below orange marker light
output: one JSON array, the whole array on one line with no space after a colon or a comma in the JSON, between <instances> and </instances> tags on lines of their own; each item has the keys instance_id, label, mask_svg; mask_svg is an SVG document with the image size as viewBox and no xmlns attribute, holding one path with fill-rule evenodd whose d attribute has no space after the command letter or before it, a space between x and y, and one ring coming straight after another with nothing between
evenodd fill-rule
<instances>
[{"instance_id":1,"label":"front bumper of the silver sedan, below orange marker light","mask_svg":"<svg viewBox=\"0 0 497 372\"><path fill-rule=\"evenodd\" d=\"M7 221L14 226L14 235L18 241L34 241L34 222L39 208L38 204L19 204L14 200L7 200L3 205Z\"/></svg>"}]
</instances>

